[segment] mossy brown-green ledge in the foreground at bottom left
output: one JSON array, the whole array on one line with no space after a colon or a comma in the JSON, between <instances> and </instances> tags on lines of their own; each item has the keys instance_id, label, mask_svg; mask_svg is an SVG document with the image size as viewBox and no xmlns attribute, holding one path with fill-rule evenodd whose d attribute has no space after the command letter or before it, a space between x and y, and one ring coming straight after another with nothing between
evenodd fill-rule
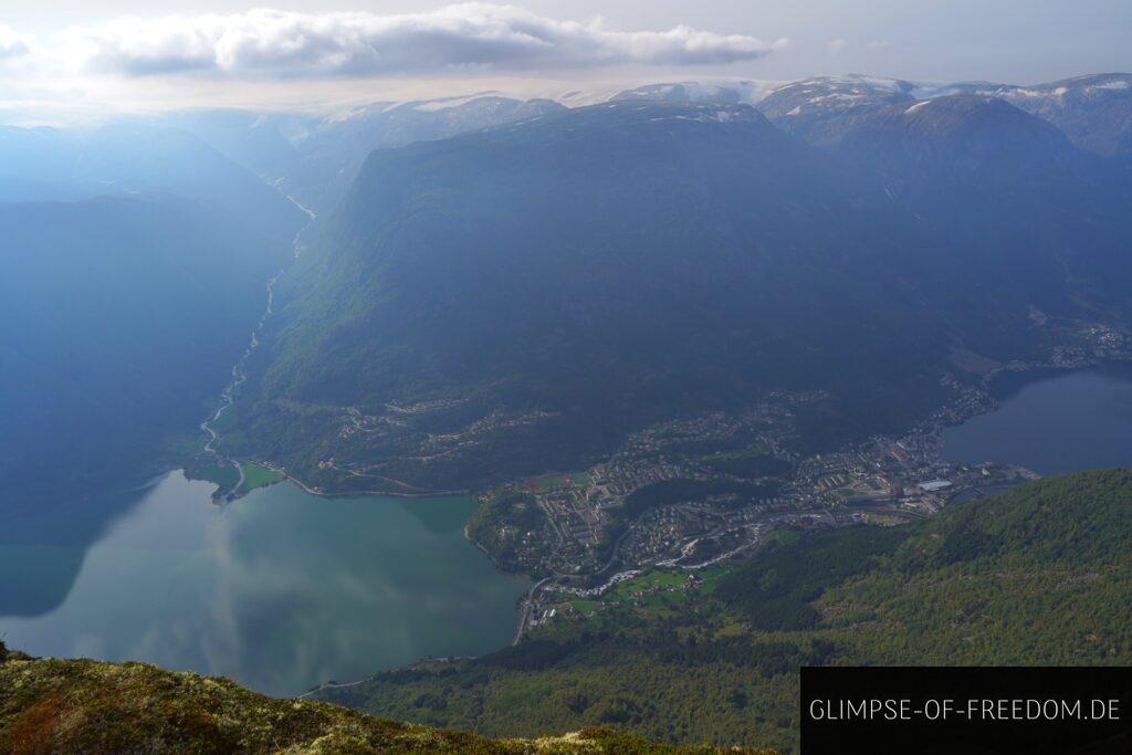
<instances>
[{"instance_id":1,"label":"mossy brown-green ledge in the foreground at bottom left","mask_svg":"<svg viewBox=\"0 0 1132 755\"><path fill-rule=\"evenodd\" d=\"M148 663L32 659L0 644L3 753L749 753L603 729L487 739Z\"/></svg>"}]
</instances>

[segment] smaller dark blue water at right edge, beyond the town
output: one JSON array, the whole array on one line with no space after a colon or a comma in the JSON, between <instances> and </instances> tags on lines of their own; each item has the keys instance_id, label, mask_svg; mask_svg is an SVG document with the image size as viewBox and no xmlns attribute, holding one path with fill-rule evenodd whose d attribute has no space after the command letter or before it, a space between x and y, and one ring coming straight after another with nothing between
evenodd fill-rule
<instances>
[{"instance_id":1,"label":"smaller dark blue water at right edge, beyond the town","mask_svg":"<svg viewBox=\"0 0 1132 755\"><path fill-rule=\"evenodd\" d=\"M944 431L945 458L1039 474L1132 466L1132 367L1021 375L1003 394L997 411Z\"/></svg>"}]
</instances>

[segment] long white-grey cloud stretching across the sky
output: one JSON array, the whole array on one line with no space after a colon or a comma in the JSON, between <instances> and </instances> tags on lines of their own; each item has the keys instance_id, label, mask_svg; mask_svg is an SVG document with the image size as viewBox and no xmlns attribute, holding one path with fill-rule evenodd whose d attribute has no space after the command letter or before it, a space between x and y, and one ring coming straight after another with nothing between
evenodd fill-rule
<instances>
[{"instance_id":1,"label":"long white-grey cloud stretching across the sky","mask_svg":"<svg viewBox=\"0 0 1132 755\"><path fill-rule=\"evenodd\" d=\"M765 43L688 26L616 31L600 18L557 20L486 3L396 16L259 8L230 15L123 18L69 28L62 38L75 65L86 71L230 77L718 65L755 60L786 44L786 40ZM0 36L0 51L2 44Z\"/></svg>"}]
</instances>

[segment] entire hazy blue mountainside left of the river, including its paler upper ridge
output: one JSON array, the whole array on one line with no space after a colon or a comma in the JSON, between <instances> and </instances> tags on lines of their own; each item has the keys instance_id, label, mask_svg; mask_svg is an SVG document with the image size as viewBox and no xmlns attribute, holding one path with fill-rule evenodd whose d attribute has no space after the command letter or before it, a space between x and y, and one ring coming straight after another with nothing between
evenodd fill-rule
<instances>
[{"instance_id":1,"label":"entire hazy blue mountainside left of the river, including its paler upper ridge","mask_svg":"<svg viewBox=\"0 0 1132 755\"><path fill-rule=\"evenodd\" d=\"M199 138L139 122L0 129L0 203L15 515L152 474L171 434L191 437L307 217Z\"/></svg>"}]
</instances>

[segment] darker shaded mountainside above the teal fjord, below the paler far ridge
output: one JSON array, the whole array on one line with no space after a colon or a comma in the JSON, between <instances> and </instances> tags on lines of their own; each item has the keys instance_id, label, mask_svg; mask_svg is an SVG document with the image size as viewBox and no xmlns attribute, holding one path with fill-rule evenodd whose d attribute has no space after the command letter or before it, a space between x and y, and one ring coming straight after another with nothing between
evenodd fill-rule
<instances>
[{"instance_id":1,"label":"darker shaded mountainside above the teal fjord, below the paler far ridge","mask_svg":"<svg viewBox=\"0 0 1132 755\"><path fill-rule=\"evenodd\" d=\"M10 515L25 497L50 499L40 492L60 477L113 479L152 464L169 434L194 432L290 258L289 244L171 196L0 205L0 233Z\"/></svg>"}]
</instances>

